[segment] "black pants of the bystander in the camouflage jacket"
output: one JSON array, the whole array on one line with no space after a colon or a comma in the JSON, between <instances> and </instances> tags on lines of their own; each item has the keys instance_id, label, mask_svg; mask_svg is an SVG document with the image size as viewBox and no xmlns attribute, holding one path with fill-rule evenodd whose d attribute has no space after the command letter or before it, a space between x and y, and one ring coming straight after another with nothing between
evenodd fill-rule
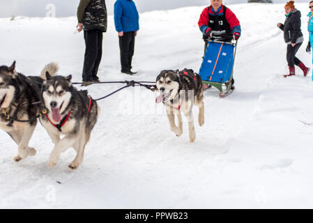
<instances>
[{"instance_id":1,"label":"black pants of the bystander in the camouflage jacket","mask_svg":"<svg viewBox=\"0 0 313 223\"><path fill-rule=\"evenodd\" d=\"M98 68L102 57L103 33L100 30L84 31L86 44L84 68L82 72L83 81L97 79Z\"/></svg>"}]
</instances>

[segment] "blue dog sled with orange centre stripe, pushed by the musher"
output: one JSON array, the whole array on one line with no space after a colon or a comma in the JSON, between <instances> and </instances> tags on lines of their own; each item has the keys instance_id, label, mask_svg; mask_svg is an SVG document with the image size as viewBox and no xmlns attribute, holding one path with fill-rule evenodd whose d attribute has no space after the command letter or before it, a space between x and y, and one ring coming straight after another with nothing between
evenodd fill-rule
<instances>
[{"instance_id":1,"label":"blue dog sled with orange centre stripe, pushed by the musher","mask_svg":"<svg viewBox=\"0 0 313 223\"><path fill-rule=\"evenodd\" d=\"M214 86L220 90L220 97L224 98L234 91L232 82L234 82L233 71L237 40L232 40L231 43L217 40L207 41L199 75L204 89Z\"/></svg>"}]
</instances>

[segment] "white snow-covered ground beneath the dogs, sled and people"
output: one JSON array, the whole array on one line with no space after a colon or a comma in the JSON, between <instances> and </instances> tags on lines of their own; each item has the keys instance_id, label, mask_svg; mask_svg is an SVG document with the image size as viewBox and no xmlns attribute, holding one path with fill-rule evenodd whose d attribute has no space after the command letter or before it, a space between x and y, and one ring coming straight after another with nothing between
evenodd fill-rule
<instances>
[{"instance_id":1,"label":"white snow-covered ground beneath the dogs, sled and people","mask_svg":"<svg viewBox=\"0 0 313 223\"><path fill-rule=\"evenodd\" d=\"M307 3L301 11L305 43ZM134 77L122 75L113 17L109 17L100 64L101 81L154 81L160 70L199 70L203 41L197 21L203 7L153 11L140 15ZM218 98L205 92L203 127L197 138L170 130L156 93L125 89L99 102L101 113L85 159L71 171L72 149L47 167L52 141L39 124L30 141L35 157L13 162L17 146L1 131L0 208L313 208L312 72L284 78L286 45L277 22L284 4L229 6L242 25L234 78L236 91ZM0 64L17 61L17 71L37 75L58 61L61 75L81 81L82 33L75 17L0 19ZM121 84L86 87L100 98ZM80 86L78 87L80 88ZM198 110L194 109L194 116Z\"/></svg>"}]
</instances>

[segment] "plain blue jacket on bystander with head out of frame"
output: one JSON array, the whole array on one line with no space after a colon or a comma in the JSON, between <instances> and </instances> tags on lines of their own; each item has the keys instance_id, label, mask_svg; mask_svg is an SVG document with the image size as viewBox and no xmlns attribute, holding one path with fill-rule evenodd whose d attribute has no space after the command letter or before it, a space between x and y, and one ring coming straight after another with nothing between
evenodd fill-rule
<instances>
[{"instance_id":1,"label":"plain blue jacket on bystander with head out of frame","mask_svg":"<svg viewBox=\"0 0 313 223\"><path fill-rule=\"evenodd\" d=\"M114 3L114 23L118 32L139 30L139 14L132 0L117 0Z\"/></svg>"}]
</instances>

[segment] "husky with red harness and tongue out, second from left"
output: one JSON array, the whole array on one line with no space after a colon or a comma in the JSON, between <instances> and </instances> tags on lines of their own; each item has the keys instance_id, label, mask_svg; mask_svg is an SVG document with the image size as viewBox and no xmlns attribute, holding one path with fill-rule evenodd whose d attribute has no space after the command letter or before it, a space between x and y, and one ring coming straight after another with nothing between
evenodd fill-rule
<instances>
[{"instance_id":1,"label":"husky with red harness and tongue out, second from left","mask_svg":"<svg viewBox=\"0 0 313 223\"><path fill-rule=\"evenodd\" d=\"M72 86L71 75L51 77L47 72L46 77L41 98L47 114L40 118L40 123L54 143L48 167L56 165L61 153L73 147L77 155L68 167L77 169L82 164L84 148L98 118L97 102L87 91L77 91ZM62 139L61 134L64 135Z\"/></svg>"}]
</instances>

